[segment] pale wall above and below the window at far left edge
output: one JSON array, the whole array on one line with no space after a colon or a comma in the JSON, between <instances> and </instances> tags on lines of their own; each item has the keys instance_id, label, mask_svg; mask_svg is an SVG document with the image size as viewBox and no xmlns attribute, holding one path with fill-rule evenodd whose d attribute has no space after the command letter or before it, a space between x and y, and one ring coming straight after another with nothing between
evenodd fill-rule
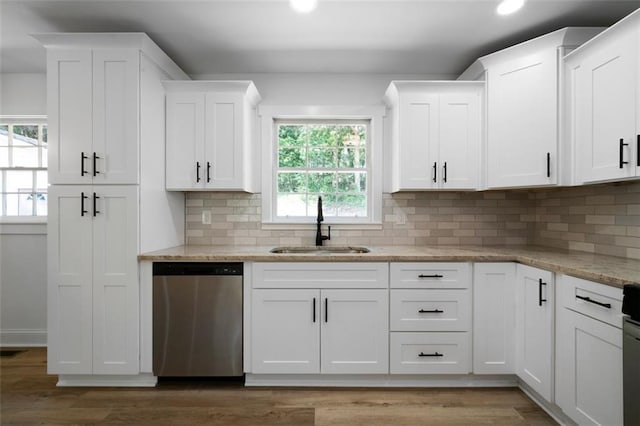
<instances>
[{"instance_id":1,"label":"pale wall above and below the window at far left edge","mask_svg":"<svg viewBox=\"0 0 640 426\"><path fill-rule=\"evenodd\" d=\"M45 74L0 74L0 115L46 115ZM0 223L0 346L47 341L47 226Z\"/></svg>"}]
</instances>

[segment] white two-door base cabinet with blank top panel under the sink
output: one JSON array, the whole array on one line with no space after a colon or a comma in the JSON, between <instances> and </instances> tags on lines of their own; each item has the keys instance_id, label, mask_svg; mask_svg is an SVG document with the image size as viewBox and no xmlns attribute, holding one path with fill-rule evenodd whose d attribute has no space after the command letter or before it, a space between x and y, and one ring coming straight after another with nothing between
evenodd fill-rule
<instances>
[{"instance_id":1,"label":"white two-door base cabinet with blank top panel under the sink","mask_svg":"<svg viewBox=\"0 0 640 426\"><path fill-rule=\"evenodd\" d=\"M388 373L388 278L361 288L362 270L388 265L254 263L251 373Z\"/></svg>"}]
</instances>

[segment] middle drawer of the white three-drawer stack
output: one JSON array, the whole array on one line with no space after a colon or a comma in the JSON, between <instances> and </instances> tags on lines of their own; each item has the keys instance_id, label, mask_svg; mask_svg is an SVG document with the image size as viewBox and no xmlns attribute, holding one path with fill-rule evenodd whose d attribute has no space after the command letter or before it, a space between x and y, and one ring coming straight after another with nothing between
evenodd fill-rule
<instances>
[{"instance_id":1,"label":"middle drawer of the white three-drawer stack","mask_svg":"<svg viewBox=\"0 0 640 426\"><path fill-rule=\"evenodd\" d=\"M392 331L470 331L470 290L391 290Z\"/></svg>"}]
</instances>

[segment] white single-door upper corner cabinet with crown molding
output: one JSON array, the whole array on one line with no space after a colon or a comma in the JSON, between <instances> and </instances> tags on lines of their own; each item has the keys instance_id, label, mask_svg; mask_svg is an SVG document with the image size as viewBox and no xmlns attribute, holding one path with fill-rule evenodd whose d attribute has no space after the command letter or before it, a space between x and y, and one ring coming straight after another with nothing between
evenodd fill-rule
<instances>
[{"instance_id":1,"label":"white single-door upper corner cabinet with crown molding","mask_svg":"<svg viewBox=\"0 0 640 426\"><path fill-rule=\"evenodd\" d=\"M484 56L460 76L487 84L487 188L561 183L561 58L600 31L558 30Z\"/></svg>"}]
</instances>

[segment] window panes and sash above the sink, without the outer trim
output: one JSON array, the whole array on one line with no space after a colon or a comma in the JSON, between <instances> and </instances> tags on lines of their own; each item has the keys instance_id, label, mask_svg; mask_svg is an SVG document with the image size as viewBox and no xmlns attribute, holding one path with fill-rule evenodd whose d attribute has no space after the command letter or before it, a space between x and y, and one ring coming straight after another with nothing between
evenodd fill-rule
<instances>
[{"instance_id":1,"label":"window panes and sash above the sink, without the outer trim","mask_svg":"<svg viewBox=\"0 0 640 426\"><path fill-rule=\"evenodd\" d=\"M369 216L368 122L287 121L276 123L276 216Z\"/></svg>"}]
</instances>

